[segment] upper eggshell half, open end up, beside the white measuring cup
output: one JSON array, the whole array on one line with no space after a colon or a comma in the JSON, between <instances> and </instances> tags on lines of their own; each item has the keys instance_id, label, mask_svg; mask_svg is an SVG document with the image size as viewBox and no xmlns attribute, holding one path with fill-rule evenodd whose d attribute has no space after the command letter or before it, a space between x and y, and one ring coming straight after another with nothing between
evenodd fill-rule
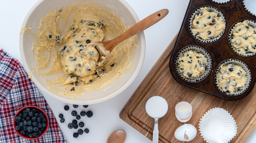
<instances>
[{"instance_id":1,"label":"upper eggshell half, open end up, beside the white measuring cup","mask_svg":"<svg viewBox=\"0 0 256 143\"><path fill-rule=\"evenodd\" d=\"M192 116L192 106L187 102L176 104L175 116L180 122L187 122Z\"/></svg>"}]
</instances>

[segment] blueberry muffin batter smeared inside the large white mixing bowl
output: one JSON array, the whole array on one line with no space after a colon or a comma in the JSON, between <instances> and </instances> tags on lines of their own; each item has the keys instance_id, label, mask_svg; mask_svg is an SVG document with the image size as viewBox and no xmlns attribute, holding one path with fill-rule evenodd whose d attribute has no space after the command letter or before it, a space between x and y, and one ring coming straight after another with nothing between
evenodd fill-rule
<instances>
[{"instance_id":1,"label":"blueberry muffin batter smeared inside the large white mixing bowl","mask_svg":"<svg viewBox=\"0 0 256 143\"><path fill-rule=\"evenodd\" d=\"M45 78L58 95L76 98L99 90L131 69L136 36L119 43L111 53L101 47L100 52L107 59L102 56L103 61L97 62L96 47L100 45L94 42L114 39L127 30L122 20L105 7L75 5L54 9L42 18L38 29L32 47L37 62L34 73Z\"/></svg>"}]
</instances>

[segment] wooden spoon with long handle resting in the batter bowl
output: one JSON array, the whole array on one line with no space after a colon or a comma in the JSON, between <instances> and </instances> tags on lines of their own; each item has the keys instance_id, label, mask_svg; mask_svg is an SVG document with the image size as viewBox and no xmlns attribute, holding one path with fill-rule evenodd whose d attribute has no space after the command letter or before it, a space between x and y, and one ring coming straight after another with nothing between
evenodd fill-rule
<instances>
[{"instance_id":1,"label":"wooden spoon with long handle resting in the batter bowl","mask_svg":"<svg viewBox=\"0 0 256 143\"><path fill-rule=\"evenodd\" d=\"M111 52L116 47L117 44L138 34L141 31L144 31L148 27L156 24L161 19L163 19L168 14L168 12L169 12L168 9L161 9L161 10L149 15L148 17L142 19L140 22L138 22L137 24L135 24L134 26L129 28L127 31L125 31L124 33L122 33L121 35L116 37L115 39L108 40L108 41L99 41L97 43L103 44L105 49L107 51ZM99 53L98 62L102 61L101 56L102 56L101 53Z\"/></svg>"}]
</instances>

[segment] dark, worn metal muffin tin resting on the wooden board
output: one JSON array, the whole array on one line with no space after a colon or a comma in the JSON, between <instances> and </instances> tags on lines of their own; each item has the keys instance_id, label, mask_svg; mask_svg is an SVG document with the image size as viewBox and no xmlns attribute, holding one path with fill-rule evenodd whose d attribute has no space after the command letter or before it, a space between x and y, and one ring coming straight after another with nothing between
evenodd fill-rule
<instances>
[{"instance_id":1,"label":"dark, worn metal muffin tin resting on the wooden board","mask_svg":"<svg viewBox=\"0 0 256 143\"><path fill-rule=\"evenodd\" d=\"M197 40L192 35L189 28L189 21L191 15L194 13L196 9L204 6L218 9L218 11L220 11L224 15L226 22L226 27L223 35L218 40L209 43ZM240 100L247 96L255 85L256 55L241 56L235 53L232 50L228 39L230 30L233 28L233 25L243 20L251 20L254 22L256 21L256 17L253 14L251 14L248 10L246 10L245 5L243 5L243 0L227 0L224 3L216 3L212 0L190 0L186 14L183 19L183 23L181 25L181 29L178 34L178 38L176 40L175 46L170 57L169 67L174 79L184 86L203 91L205 93L211 94L213 96L225 100ZM207 53L209 53L211 57L211 70L207 74L207 76L202 80L196 82L187 81L179 75L176 69L177 57L179 56L181 50L187 46L202 47L204 48L205 51L207 51ZM225 92L222 92L220 89L218 89L216 85L216 70L221 63L228 59L237 59L239 61L244 62L251 73L251 81L248 83L249 87L244 92L238 95L228 95Z\"/></svg>"}]
</instances>

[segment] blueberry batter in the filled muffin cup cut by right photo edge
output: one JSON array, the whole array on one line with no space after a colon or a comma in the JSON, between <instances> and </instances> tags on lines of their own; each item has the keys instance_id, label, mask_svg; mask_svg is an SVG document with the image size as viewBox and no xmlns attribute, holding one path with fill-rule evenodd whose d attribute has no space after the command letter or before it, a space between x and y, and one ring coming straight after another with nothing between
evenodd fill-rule
<instances>
[{"instance_id":1,"label":"blueberry batter in the filled muffin cup cut by right photo edge","mask_svg":"<svg viewBox=\"0 0 256 143\"><path fill-rule=\"evenodd\" d=\"M231 43L238 53L256 52L256 28L248 24L248 20L238 23L233 30Z\"/></svg>"}]
</instances>

